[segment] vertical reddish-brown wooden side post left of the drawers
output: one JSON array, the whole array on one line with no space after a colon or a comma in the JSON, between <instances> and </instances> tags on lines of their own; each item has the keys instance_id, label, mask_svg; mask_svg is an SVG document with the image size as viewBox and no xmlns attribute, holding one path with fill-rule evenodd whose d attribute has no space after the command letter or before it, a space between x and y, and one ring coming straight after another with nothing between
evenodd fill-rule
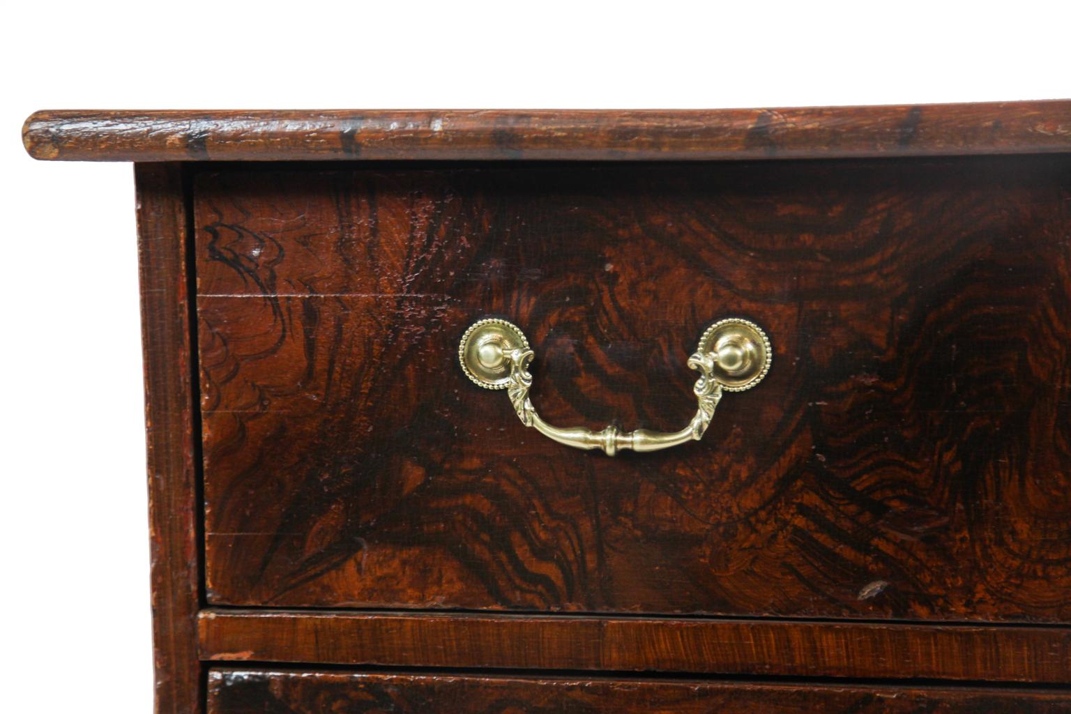
<instances>
[{"instance_id":1,"label":"vertical reddish-brown wooden side post left of the drawers","mask_svg":"<svg viewBox=\"0 0 1071 714\"><path fill-rule=\"evenodd\" d=\"M138 165L152 624L159 714L200 711L197 474L182 167Z\"/></svg>"}]
</instances>

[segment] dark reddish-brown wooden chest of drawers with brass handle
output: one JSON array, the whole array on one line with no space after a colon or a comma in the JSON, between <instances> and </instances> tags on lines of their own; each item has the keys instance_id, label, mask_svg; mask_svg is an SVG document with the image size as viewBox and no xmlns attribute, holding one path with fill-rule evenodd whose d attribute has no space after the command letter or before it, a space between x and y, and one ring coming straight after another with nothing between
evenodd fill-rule
<instances>
[{"instance_id":1,"label":"dark reddish-brown wooden chest of drawers with brass handle","mask_svg":"<svg viewBox=\"0 0 1071 714\"><path fill-rule=\"evenodd\" d=\"M159 711L1071 711L1071 103L24 137L135 163Z\"/></svg>"}]
</instances>

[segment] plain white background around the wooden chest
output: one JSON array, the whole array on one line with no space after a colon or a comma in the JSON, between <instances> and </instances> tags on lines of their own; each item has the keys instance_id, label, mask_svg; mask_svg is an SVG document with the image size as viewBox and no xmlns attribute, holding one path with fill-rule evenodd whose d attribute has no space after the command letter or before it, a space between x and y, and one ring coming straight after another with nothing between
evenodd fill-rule
<instances>
[{"instance_id":1,"label":"plain white background around the wooden chest","mask_svg":"<svg viewBox=\"0 0 1071 714\"><path fill-rule=\"evenodd\" d=\"M7 2L0 662L10 712L151 711L133 171L42 108L716 108L1071 97L1051 2Z\"/></svg>"}]
</instances>

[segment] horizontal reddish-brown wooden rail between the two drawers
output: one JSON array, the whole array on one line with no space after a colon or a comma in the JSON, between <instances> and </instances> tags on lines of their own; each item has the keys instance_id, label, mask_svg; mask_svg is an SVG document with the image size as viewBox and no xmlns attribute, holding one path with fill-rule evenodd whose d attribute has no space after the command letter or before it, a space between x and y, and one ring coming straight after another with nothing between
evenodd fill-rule
<instances>
[{"instance_id":1,"label":"horizontal reddish-brown wooden rail between the two drawers","mask_svg":"<svg viewBox=\"0 0 1071 714\"><path fill-rule=\"evenodd\" d=\"M1071 682L1071 629L205 610L206 660Z\"/></svg>"}]
</instances>

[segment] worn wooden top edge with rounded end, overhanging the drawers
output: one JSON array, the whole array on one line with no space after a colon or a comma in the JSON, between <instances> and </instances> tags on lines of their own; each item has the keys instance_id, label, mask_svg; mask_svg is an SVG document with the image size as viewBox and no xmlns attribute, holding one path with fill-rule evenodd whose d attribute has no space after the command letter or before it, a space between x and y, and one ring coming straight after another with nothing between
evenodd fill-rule
<instances>
[{"instance_id":1,"label":"worn wooden top edge with rounded end, overhanging the drawers","mask_svg":"<svg viewBox=\"0 0 1071 714\"><path fill-rule=\"evenodd\" d=\"M1071 102L700 111L39 111L61 161L713 159L1071 151Z\"/></svg>"}]
</instances>

